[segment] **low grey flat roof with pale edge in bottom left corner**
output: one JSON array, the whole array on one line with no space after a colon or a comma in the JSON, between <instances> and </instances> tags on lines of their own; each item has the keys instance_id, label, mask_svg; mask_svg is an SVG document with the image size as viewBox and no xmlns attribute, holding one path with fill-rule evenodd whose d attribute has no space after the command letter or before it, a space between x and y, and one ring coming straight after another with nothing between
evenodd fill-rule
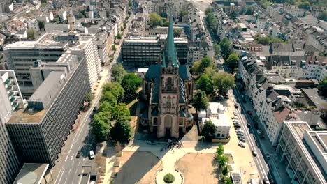
<instances>
[{"instance_id":1,"label":"low grey flat roof with pale edge in bottom left corner","mask_svg":"<svg viewBox=\"0 0 327 184\"><path fill-rule=\"evenodd\" d=\"M49 164L25 163L13 184L40 184Z\"/></svg>"}]
</instances>

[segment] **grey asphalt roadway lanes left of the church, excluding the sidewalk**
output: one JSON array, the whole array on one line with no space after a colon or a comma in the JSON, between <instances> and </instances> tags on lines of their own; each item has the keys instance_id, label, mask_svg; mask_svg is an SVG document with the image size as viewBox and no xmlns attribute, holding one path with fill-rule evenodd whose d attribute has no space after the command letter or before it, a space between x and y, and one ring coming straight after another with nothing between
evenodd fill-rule
<instances>
[{"instance_id":1,"label":"grey asphalt roadway lanes left of the church, excluding the sidewalk","mask_svg":"<svg viewBox=\"0 0 327 184\"><path fill-rule=\"evenodd\" d=\"M132 15L133 16L133 15ZM111 67L114 65L117 61L117 58L119 56L119 52L122 45L122 40L124 40L124 37L126 36L126 33L129 30L131 24L131 19L129 20L127 24L127 30L124 32L121 41L119 42L119 47L117 48L117 51L115 52L115 56L113 59L113 62L107 66L108 67L108 75L106 76L106 82L110 81L111 76ZM100 89L102 91L102 89ZM75 183L81 183L82 180L82 166L92 166L94 160L89 159L89 151L94 150L95 148L92 147L92 143L94 142L94 137L91 134L91 121L93 117L93 109L95 106L99 106L99 100L101 98L101 93L97 95L92 105L87 111L87 115L84 119L80 120L80 127L77 129L77 132L75 133L75 136L73 137L73 142L71 144L71 147L66 154L66 158L62 158L60 161L61 167L59 174L57 178L55 178L54 184L75 184ZM80 158L76 158L76 155L80 151ZM84 184L84 183L82 183Z\"/></svg>"}]
</instances>

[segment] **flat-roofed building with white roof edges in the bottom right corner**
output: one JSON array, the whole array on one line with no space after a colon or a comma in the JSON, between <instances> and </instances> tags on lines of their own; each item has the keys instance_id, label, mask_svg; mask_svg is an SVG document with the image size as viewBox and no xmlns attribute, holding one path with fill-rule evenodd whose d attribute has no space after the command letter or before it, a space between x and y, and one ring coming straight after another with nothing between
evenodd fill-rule
<instances>
[{"instance_id":1,"label":"flat-roofed building with white roof edges in the bottom right corner","mask_svg":"<svg viewBox=\"0 0 327 184\"><path fill-rule=\"evenodd\" d=\"M292 183L326 183L326 131L312 131L304 121L284 121L277 153Z\"/></svg>"}]
</instances>

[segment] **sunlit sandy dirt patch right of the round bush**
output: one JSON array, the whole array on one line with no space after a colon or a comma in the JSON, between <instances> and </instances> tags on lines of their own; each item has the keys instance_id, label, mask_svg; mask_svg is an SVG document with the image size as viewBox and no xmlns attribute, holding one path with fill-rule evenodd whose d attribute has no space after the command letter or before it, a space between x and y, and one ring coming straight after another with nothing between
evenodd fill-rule
<instances>
[{"instance_id":1,"label":"sunlit sandy dirt patch right of the round bush","mask_svg":"<svg viewBox=\"0 0 327 184\"><path fill-rule=\"evenodd\" d=\"M187 153L178 160L175 168L184 174L185 184L219 183L215 154L210 153Z\"/></svg>"}]
</instances>

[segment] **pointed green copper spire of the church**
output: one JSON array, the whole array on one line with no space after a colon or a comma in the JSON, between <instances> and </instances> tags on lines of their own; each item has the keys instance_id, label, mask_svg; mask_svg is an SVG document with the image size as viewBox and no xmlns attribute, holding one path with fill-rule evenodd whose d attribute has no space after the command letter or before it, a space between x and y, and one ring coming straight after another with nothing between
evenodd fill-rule
<instances>
[{"instance_id":1,"label":"pointed green copper spire of the church","mask_svg":"<svg viewBox=\"0 0 327 184\"><path fill-rule=\"evenodd\" d=\"M171 62L173 66L178 67L177 54L176 54L175 43L174 43L173 15L169 16L168 35L167 35L164 61L162 62L162 65L168 66L169 62Z\"/></svg>"}]
</instances>

